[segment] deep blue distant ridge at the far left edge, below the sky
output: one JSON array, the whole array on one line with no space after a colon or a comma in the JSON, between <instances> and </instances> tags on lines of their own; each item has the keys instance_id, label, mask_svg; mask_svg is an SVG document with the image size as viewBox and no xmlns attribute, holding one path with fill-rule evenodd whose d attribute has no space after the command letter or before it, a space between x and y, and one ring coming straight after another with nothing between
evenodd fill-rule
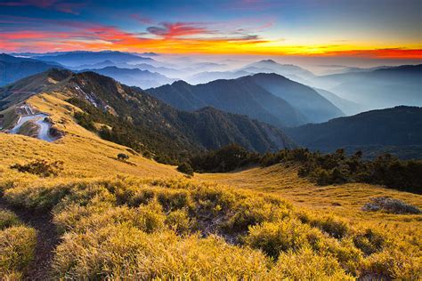
<instances>
[{"instance_id":1,"label":"deep blue distant ridge at the far left edge, below the sky","mask_svg":"<svg viewBox=\"0 0 422 281\"><path fill-rule=\"evenodd\" d=\"M50 68L62 68L52 61L41 61L27 58L18 58L0 54L0 86L10 84L26 76L43 72Z\"/></svg>"}]
</instances>

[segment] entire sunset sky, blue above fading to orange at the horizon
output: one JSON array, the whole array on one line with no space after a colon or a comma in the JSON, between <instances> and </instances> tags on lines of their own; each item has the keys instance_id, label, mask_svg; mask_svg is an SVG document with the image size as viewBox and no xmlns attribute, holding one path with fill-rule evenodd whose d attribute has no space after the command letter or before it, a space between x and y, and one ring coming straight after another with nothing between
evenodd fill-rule
<instances>
[{"instance_id":1,"label":"entire sunset sky, blue above fading to orange at the horizon","mask_svg":"<svg viewBox=\"0 0 422 281\"><path fill-rule=\"evenodd\" d=\"M0 52L422 59L420 0L0 0Z\"/></svg>"}]
</instances>

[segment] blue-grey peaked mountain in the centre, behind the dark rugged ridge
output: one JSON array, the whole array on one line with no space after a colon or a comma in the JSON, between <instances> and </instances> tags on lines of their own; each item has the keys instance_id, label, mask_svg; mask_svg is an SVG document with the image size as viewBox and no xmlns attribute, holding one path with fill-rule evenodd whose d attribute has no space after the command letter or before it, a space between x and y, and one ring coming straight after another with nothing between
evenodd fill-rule
<instances>
[{"instance_id":1,"label":"blue-grey peaked mountain in the centre, behind the dark rugged ridge","mask_svg":"<svg viewBox=\"0 0 422 281\"><path fill-rule=\"evenodd\" d=\"M279 127L322 122L344 115L312 88L276 74L198 85L178 81L147 92L175 108L196 110L212 106Z\"/></svg>"}]
</instances>

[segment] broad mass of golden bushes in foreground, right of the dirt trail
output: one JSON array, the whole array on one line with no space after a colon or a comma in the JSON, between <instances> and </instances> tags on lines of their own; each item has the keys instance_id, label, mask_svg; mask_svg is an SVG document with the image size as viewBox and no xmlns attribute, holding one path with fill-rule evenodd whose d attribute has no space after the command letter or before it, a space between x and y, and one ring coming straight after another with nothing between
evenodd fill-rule
<instances>
[{"instance_id":1,"label":"broad mass of golden bushes in foreground, right of the dirt trail","mask_svg":"<svg viewBox=\"0 0 422 281\"><path fill-rule=\"evenodd\" d=\"M52 210L58 278L349 279L384 269L385 278L420 277L418 243L280 197L122 176L0 188L14 205Z\"/></svg>"}]
</instances>

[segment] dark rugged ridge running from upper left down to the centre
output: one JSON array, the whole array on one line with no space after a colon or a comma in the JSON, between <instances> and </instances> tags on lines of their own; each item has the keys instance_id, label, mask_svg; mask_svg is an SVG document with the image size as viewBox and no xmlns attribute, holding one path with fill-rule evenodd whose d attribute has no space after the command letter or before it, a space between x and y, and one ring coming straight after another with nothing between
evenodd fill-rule
<instances>
[{"instance_id":1,"label":"dark rugged ridge running from upper left down to the centre","mask_svg":"<svg viewBox=\"0 0 422 281\"><path fill-rule=\"evenodd\" d=\"M82 109L75 117L85 128L165 162L232 142L258 152L292 144L280 129L248 116L215 108L177 110L141 89L93 72L53 69L29 76L0 90L2 109L24 100L23 91L26 98L39 92L60 93Z\"/></svg>"}]
</instances>

